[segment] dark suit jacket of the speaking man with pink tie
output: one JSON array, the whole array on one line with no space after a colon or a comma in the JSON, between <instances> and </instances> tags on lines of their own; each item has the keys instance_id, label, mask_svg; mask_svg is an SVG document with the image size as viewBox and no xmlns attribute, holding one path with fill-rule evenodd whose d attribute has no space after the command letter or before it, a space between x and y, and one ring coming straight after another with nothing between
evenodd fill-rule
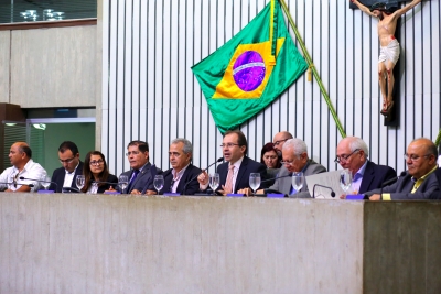
<instances>
[{"instance_id":1,"label":"dark suit jacket of the speaking man with pink tie","mask_svg":"<svg viewBox=\"0 0 441 294\"><path fill-rule=\"evenodd\" d=\"M225 185L225 183L227 182L228 164L229 164L228 162L225 162L223 164L219 164L219 166L217 166L217 173L219 174L220 177L219 187L217 189L222 189L222 186ZM234 193L237 193L239 189L249 187L250 173L260 173L260 179L261 181L267 179L267 166L261 164L260 162L256 162L249 159L248 156L244 156L244 160L241 161L239 167L239 172L237 173ZM268 187L267 182L260 185L260 188L265 187Z\"/></svg>"}]
</instances>

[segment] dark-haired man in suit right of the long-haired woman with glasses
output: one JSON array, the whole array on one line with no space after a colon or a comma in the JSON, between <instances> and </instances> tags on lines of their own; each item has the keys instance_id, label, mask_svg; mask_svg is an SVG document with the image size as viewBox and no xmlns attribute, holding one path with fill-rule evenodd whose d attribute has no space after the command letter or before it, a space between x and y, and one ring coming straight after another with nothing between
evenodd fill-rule
<instances>
[{"instance_id":1,"label":"dark-haired man in suit right of the long-haired woman with glasses","mask_svg":"<svg viewBox=\"0 0 441 294\"><path fill-rule=\"evenodd\" d=\"M127 175L129 179L129 185L121 193L157 194L153 179L157 174L162 174L162 171L149 162L149 144L143 141L131 141L127 145L126 155L131 170L121 174Z\"/></svg>"}]
</instances>

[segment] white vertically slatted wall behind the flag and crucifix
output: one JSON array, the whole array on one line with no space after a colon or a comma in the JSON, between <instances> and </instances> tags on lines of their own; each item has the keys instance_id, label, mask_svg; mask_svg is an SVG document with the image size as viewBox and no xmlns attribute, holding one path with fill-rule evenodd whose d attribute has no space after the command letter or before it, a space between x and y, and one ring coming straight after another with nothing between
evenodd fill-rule
<instances>
[{"instance_id":1,"label":"white vertically slatted wall behind the flag and crucifix","mask_svg":"<svg viewBox=\"0 0 441 294\"><path fill-rule=\"evenodd\" d=\"M169 168L169 142L194 144L194 164L222 154L222 135L190 67L227 42L268 0L104 1L101 150L110 170L129 165L126 145L150 143L153 163ZM349 1L288 1L294 22L348 135L362 137L370 159L399 173L415 138L440 129L440 3L424 1L402 18L399 127L384 127L377 83L376 20ZM422 8L421 8L422 7ZM341 135L318 84L302 76L278 100L240 128L249 156L276 132L303 139L330 171Z\"/></svg>"}]
</instances>

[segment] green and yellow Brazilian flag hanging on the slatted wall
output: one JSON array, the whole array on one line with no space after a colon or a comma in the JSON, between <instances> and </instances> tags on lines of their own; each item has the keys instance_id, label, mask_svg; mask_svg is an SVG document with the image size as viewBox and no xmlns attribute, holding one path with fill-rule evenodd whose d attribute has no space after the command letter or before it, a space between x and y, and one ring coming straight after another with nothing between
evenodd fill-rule
<instances>
[{"instance_id":1,"label":"green and yellow Brazilian flag hanging on the slatted wall","mask_svg":"<svg viewBox=\"0 0 441 294\"><path fill-rule=\"evenodd\" d=\"M271 0L239 33L192 67L222 133L278 98L308 64Z\"/></svg>"}]
</instances>

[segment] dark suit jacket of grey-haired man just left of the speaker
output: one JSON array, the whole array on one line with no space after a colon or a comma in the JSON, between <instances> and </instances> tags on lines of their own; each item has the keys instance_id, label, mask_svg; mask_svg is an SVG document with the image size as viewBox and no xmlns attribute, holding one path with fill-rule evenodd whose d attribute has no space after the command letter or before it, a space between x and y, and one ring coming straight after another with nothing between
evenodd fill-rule
<instances>
[{"instance_id":1,"label":"dark suit jacket of grey-haired man just left of the speaker","mask_svg":"<svg viewBox=\"0 0 441 294\"><path fill-rule=\"evenodd\" d=\"M173 174L172 170L170 168L163 173L164 176L164 187L160 190L160 194L163 195L164 193L170 193L171 192L171 183L173 179ZM184 174L182 175L180 183L178 184L176 187L176 193L180 193L181 195L194 195L200 190L200 183L197 182L197 176L202 173L201 168L194 166L193 164L190 164ZM185 187L185 193L184 193L184 186Z\"/></svg>"}]
</instances>

